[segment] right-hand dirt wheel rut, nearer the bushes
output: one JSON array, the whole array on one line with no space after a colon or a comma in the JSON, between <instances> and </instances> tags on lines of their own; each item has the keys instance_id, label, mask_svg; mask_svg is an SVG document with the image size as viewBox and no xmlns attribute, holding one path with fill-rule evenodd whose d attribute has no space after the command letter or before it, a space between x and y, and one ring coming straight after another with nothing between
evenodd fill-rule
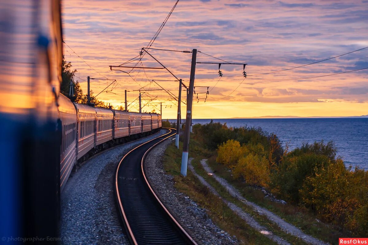
<instances>
[{"instance_id":1,"label":"right-hand dirt wheel rut, nearer the bushes","mask_svg":"<svg viewBox=\"0 0 368 245\"><path fill-rule=\"evenodd\" d=\"M215 173L213 173L212 169L207 165L207 159L202 159L201 164L206 172L211 173L212 177L219 182L226 190L229 192L230 195L233 197L239 199L246 205L254 208L254 210L262 215L265 215L270 221L277 224L283 231L286 233L289 233L293 236L301 238L303 241L308 242L309 244L316 244L316 245L328 245L328 243L325 243L323 241L320 241L314 237L311 237L310 235L307 235L303 233L299 228L293 226L290 223L287 223L285 220L281 219L279 216L275 215L274 213L270 212L269 210L262 208L258 205L256 205L254 202L250 202L247 199L245 199L238 190L236 190L229 182L227 182L225 179L217 176Z\"/></svg>"}]
</instances>

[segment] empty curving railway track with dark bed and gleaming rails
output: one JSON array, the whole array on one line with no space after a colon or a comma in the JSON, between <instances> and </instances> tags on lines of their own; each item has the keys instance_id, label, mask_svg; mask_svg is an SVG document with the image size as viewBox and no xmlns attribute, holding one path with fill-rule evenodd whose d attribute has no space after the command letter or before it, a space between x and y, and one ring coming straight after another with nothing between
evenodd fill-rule
<instances>
[{"instance_id":1,"label":"empty curving railway track with dark bed and gleaming rails","mask_svg":"<svg viewBox=\"0 0 368 245\"><path fill-rule=\"evenodd\" d=\"M132 149L117 166L117 206L131 244L196 244L160 202L143 170L146 154L176 133L174 129L167 130Z\"/></svg>"}]
</instances>

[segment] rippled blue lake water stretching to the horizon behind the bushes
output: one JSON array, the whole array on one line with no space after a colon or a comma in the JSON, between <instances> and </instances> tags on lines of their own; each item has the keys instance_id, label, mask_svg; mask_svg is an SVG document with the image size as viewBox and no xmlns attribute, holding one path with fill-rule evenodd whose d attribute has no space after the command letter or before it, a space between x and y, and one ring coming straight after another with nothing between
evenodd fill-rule
<instances>
[{"instance_id":1,"label":"rippled blue lake water stretching to the horizon behind the bushes","mask_svg":"<svg viewBox=\"0 0 368 245\"><path fill-rule=\"evenodd\" d=\"M330 140L335 142L337 155L345 165L368 170L368 118L282 118L282 119L213 119L229 127L261 127L276 133L289 150L303 142ZM176 122L176 120L170 120ZM210 119L193 119L193 123L209 123Z\"/></svg>"}]
</instances>

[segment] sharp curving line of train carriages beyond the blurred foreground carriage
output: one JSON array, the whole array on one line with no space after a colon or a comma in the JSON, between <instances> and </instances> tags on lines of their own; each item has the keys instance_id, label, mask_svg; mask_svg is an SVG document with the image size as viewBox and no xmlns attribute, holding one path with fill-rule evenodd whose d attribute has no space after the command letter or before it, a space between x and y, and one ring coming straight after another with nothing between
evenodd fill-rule
<instances>
[{"instance_id":1,"label":"sharp curving line of train carriages beyond the blurred foreground carriage","mask_svg":"<svg viewBox=\"0 0 368 245\"><path fill-rule=\"evenodd\" d=\"M72 168L96 151L113 144L147 136L162 127L162 117L156 113L138 113L71 102L59 95L61 124L60 189L65 187Z\"/></svg>"}]
</instances>

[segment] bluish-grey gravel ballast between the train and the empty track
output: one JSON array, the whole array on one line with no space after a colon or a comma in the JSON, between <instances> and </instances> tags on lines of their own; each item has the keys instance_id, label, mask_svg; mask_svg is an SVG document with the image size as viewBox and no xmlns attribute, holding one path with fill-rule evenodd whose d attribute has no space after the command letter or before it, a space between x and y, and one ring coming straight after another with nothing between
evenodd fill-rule
<instances>
[{"instance_id":1,"label":"bluish-grey gravel ballast between the train and the empty track","mask_svg":"<svg viewBox=\"0 0 368 245\"><path fill-rule=\"evenodd\" d=\"M116 166L131 149L166 131L107 149L71 174L61 193L62 244L129 244L115 206Z\"/></svg>"}]
</instances>

